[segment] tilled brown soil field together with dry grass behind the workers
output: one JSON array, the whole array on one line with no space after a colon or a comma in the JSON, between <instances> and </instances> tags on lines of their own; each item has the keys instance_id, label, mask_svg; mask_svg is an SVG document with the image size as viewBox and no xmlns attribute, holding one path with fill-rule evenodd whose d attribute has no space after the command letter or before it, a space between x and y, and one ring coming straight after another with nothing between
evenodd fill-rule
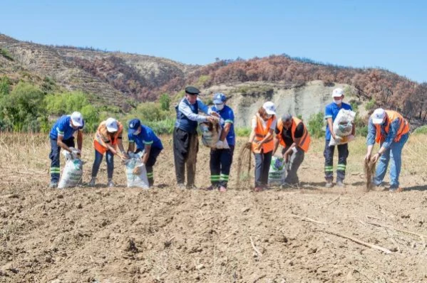
<instances>
[{"instance_id":1,"label":"tilled brown soil field together with dry grass behind the workers","mask_svg":"<svg viewBox=\"0 0 427 283\"><path fill-rule=\"evenodd\" d=\"M324 188L314 140L299 188L235 188L233 166L220 193L175 188L170 137L153 189L125 188L116 159L117 187L105 187L103 161L96 188L58 190L47 188L46 136L1 134L0 282L427 282L425 140L403 150L401 193L364 191L362 138L349 146L346 188ZM200 146L197 186L209 176Z\"/></svg>"}]
</instances>

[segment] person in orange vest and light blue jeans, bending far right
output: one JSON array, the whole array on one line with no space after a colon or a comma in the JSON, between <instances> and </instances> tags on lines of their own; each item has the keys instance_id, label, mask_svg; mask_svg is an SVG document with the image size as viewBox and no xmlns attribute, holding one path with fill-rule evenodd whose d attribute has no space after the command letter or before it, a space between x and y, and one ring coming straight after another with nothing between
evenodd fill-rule
<instances>
[{"instance_id":1,"label":"person in orange vest and light blue jeans, bending far right","mask_svg":"<svg viewBox=\"0 0 427 283\"><path fill-rule=\"evenodd\" d=\"M402 149L408 141L409 123L401 114L392 110L377 109L369 118L368 137L366 144L366 161L379 161L376 166L374 184L381 186L390 165L390 191L399 188L398 176L401 173ZM377 154L372 155L375 142L380 145Z\"/></svg>"}]
</instances>

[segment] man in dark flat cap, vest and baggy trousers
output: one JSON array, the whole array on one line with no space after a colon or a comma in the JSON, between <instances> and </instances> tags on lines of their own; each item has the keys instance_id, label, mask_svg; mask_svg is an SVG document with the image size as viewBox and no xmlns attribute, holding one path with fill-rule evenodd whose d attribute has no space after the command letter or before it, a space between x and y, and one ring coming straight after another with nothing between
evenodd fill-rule
<instances>
[{"instance_id":1,"label":"man in dark flat cap, vest and baggy trousers","mask_svg":"<svg viewBox=\"0 0 427 283\"><path fill-rule=\"evenodd\" d=\"M197 139L197 124L215 122L219 115L207 107L197 95L200 90L196 87L185 87L185 97L175 107L177 119L173 129L173 156L175 173L179 188L185 188L185 166L187 167L187 188L195 188L196 156L199 149ZM199 111L207 115L199 114Z\"/></svg>"}]
</instances>

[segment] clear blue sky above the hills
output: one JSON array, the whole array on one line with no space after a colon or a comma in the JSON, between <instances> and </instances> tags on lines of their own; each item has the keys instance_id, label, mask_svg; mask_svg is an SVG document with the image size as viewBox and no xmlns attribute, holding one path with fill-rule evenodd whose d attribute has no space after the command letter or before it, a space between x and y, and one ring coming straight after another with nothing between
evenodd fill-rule
<instances>
[{"instance_id":1,"label":"clear blue sky above the hills","mask_svg":"<svg viewBox=\"0 0 427 283\"><path fill-rule=\"evenodd\" d=\"M0 33L182 63L287 53L427 81L427 1L4 1Z\"/></svg>"}]
</instances>

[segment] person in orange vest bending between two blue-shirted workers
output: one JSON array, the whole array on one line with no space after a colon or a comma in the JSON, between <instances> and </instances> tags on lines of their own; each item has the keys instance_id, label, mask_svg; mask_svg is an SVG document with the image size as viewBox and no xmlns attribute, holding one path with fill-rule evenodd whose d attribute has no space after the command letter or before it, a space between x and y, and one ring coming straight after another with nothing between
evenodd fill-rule
<instances>
[{"instance_id":1,"label":"person in orange vest bending between two blue-shirted workers","mask_svg":"<svg viewBox=\"0 0 427 283\"><path fill-rule=\"evenodd\" d=\"M126 154L126 151L123 148L122 134L123 125L114 118L108 118L99 125L93 139L93 146L95 147L95 161L93 161L92 178L89 182L89 186L95 186L96 184L96 176L98 175L99 166L101 166L104 154L106 154L107 161L107 186L114 186L114 156L115 154L118 154L117 147L121 153L120 158L128 158L128 154Z\"/></svg>"}]
</instances>

